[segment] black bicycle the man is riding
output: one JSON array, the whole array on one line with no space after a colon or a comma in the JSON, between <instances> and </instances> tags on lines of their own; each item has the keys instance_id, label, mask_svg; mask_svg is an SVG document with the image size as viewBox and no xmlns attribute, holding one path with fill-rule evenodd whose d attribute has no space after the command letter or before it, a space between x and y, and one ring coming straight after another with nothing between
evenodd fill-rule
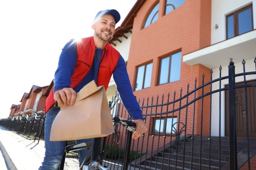
<instances>
[{"instance_id":1,"label":"black bicycle the man is riding","mask_svg":"<svg viewBox=\"0 0 256 170\"><path fill-rule=\"evenodd\" d=\"M119 118L118 116L114 116L113 118L114 122L114 129L115 129L115 135L117 134L117 124L120 124L121 126L125 127L127 131L127 144L125 147L125 158L123 161L123 169L127 169L128 167L128 158L129 158L129 150L131 146L131 135L135 131L136 124L132 120L127 120L125 118ZM107 170L108 167L102 165L102 161L104 161L104 154L106 154L105 146L106 146L106 138L107 137L99 137L93 139L93 141L89 141L86 143L77 143L77 144L70 144L65 147L65 154L62 157L62 161L60 163L60 170L64 169L64 163L66 158L66 153L71 151L77 151L81 149L88 149L89 154L88 156L83 160L83 163L81 163L81 166L79 169L81 170L91 170L91 169L101 169L101 170ZM102 141L103 140L103 141ZM102 142L102 144L100 144ZM119 143L117 141L117 143ZM100 147L98 147L100 146ZM93 161L91 161L93 160Z\"/></svg>"}]
</instances>

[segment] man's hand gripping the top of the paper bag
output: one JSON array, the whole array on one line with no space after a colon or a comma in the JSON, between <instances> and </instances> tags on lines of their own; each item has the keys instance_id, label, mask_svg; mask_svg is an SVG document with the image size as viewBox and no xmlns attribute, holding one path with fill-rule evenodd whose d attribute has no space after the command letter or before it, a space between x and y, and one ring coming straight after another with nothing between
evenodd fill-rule
<instances>
[{"instance_id":1,"label":"man's hand gripping the top of the paper bag","mask_svg":"<svg viewBox=\"0 0 256 170\"><path fill-rule=\"evenodd\" d=\"M73 88L63 88L54 93L54 100L58 102L59 105L74 105L76 98L76 92Z\"/></svg>"}]
</instances>

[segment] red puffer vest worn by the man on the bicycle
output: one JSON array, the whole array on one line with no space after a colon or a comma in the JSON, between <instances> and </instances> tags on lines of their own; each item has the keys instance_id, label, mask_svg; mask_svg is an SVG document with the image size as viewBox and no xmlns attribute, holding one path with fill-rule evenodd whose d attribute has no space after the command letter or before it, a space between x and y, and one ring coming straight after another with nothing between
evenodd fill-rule
<instances>
[{"instance_id":1,"label":"red puffer vest worn by the man on the bicycle","mask_svg":"<svg viewBox=\"0 0 256 170\"><path fill-rule=\"evenodd\" d=\"M93 65L93 59L95 56L96 46L93 37L83 38L81 41L75 42L77 46L77 61L75 64L75 72L71 77L71 88L75 88L83 80L83 78L89 73L91 66ZM113 48L109 43L106 44L102 51L100 58L100 66L98 68L98 86L104 86L105 90L108 88L110 78L116 68L119 60L119 52ZM54 105L54 92L51 90L45 101L45 114Z\"/></svg>"}]
</instances>

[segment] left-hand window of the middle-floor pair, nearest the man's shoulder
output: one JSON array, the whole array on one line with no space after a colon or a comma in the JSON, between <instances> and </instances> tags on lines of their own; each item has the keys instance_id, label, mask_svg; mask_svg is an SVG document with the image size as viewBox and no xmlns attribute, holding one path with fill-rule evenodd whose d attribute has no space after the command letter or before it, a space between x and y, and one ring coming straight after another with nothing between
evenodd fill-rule
<instances>
[{"instance_id":1,"label":"left-hand window of the middle-floor pair, nearest the man's shoulder","mask_svg":"<svg viewBox=\"0 0 256 170\"><path fill-rule=\"evenodd\" d=\"M137 67L137 78L135 84L135 91L149 88L152 75L152 63Z\"/></svg>"}]
</instances>

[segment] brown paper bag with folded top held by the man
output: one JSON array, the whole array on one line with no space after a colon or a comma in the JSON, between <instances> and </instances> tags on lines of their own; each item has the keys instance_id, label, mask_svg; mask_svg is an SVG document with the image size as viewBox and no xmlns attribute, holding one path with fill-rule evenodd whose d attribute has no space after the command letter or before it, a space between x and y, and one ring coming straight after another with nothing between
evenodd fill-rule
<instances>
[{"instance_id":1,"label":"brown paper bag with folded top held by the man","mask_svg":"<svg viewBox=\"0 0 256 170\"><path fill-rule=\"evenodd\" d=\"M61 107L51 127L50 141L106 137L114 133L104 86L93 80L84 86L72 106Z\"/></svg>"}]
</instances>

